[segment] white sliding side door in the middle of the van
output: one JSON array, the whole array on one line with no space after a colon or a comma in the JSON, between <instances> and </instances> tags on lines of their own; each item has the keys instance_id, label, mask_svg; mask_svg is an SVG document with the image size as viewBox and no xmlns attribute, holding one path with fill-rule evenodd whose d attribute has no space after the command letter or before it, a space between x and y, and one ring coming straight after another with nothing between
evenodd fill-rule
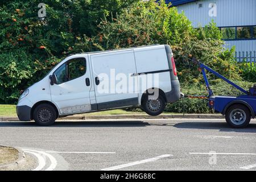
<instances>
[{"instance_id":1,"label":"white sliding side door in the middle of the van","mask_svg":"<svg viewBox=\"0 0 256 182\"><path fill-rule=\"evenodd\" d=\"M138 84L134 51L113 51L91 55L98 109L138 105Z\"/></svg>"}]
</instances>

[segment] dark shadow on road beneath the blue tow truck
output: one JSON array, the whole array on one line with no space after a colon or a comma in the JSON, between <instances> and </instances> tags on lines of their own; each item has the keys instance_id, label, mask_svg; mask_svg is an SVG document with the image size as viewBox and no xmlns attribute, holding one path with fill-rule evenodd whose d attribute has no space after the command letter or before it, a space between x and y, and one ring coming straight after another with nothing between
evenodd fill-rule
<instances>
[{"instance_id":1,"label":"dark shadow on road beneath the blue tow truck","mask_svg":"<svg viewBox=\"0 0 256 182\"><path fill-rule=\"evenodd\" d=\"M182 122L176 123L174 127L178 129L205 129L205 130L220 130L220 131L232 131L239 133L256 133L256 124L251 123L245 129L233 129L225 122Z\"/></svg>"}]
</instances>

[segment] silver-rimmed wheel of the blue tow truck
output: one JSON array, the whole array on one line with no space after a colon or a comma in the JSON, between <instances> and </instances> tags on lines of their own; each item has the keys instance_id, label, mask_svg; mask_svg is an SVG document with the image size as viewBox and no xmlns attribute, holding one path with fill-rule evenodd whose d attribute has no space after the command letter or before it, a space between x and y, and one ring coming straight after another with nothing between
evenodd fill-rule
<instances>
[{"instance_id":1,"label":"silver-rimmed wheel of the blue tow truck","mask_svg":"<svg viewBox=\"0 0 256 182\"><path fill-rule=\"evenodd\" d=\"M228 108L225 118L229 126L241 129L249 125L251 121L251 113L246 106L235 104Z\"/></svg>"}]
</instances>

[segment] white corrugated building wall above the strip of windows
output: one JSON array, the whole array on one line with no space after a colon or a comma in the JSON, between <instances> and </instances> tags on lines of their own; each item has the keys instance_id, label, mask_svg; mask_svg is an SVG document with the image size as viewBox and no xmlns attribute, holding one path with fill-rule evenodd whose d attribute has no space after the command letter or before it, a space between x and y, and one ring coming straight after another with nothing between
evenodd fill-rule
<instances>
[{"instance_id":1,"label":"white corrugated building wall above the strip of windows","mask_svg":"<svg viewBox=\"0 0 256 182\"><path fill-rule=\"evenodd\" d=\"M210 3L217 6L216 17L209 16ZM177 10L184 11L194 27L204 27L212 19L218 27L256 25L256 0L202 0L177 6Z\"/></svg>"}]
</instances>

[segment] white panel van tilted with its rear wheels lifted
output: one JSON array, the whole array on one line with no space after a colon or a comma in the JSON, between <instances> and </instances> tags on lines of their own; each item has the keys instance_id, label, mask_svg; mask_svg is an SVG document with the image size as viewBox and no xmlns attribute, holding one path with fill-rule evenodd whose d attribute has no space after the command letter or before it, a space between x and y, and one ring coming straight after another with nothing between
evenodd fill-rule
<instances>
[{"instance_id":1,"label":"white panel van tilted with its rear wheels lifted","mask_svg":"<svg viewBox=\"0 0 256 182\"><path fill-rule=\"evenodd\" d=\"M175 61L168 45L71 55L26 89L20 121L51 125L58 117L141 106L159 115L180 99Z\"/></svg>"}]
</instances>

